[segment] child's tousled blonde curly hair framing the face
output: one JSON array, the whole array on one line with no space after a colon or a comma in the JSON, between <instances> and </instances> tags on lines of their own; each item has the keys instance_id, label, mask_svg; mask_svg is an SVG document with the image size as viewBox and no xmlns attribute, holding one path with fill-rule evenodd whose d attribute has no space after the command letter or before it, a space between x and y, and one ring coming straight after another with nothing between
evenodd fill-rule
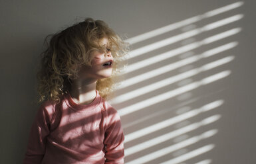
<instances>
[{"instance_id":1,"label":"child's tousled blonde curly hair framing the face","mask_svg":"<svg viewBox=\"0 0 256 164\"><path fill-rule=\"evenodd\" d=\"M47 42L49 37L51 40ZM77 77L80 66L91 65L92 52L103 50L102 38L108 39L115 61L112 76L96 82L100 96L107 99L124 67L123 57L129 45L105 22L88 18L45 38L47 49L42 53L41 69L37 73L39 102L60 102L61 96L70 89L70 81Z\"/></svg>"}]
</instances>

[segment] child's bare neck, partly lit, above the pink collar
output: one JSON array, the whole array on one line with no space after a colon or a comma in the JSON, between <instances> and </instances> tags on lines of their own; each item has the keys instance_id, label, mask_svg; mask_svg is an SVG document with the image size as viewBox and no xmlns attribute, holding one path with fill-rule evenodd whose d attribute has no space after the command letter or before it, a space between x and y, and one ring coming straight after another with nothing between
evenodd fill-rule
<instances>
[{"instance_id":1,"label":"child's bare neck, partly lit, above the pink collar","mask_svg":"<svg viewBox=\"0 0 256 164\"><path fill-rule=\"evenodd\" d=\"M96 81L74 79L70 87L70 96L76 104L90 104L96 97Z\"/></svg>"}]
</instances>

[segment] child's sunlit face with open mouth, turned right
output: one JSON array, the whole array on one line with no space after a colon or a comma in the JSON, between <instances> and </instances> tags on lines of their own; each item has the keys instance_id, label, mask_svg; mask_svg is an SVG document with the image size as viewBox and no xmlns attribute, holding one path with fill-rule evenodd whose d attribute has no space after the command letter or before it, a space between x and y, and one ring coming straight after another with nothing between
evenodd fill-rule
<instances>
[{"instance_id":1,"label":"child's sunlit face with open mouth, turned right","mask_svg":"<svg viewBox=\"0 0 256 164\"><path fill-rule=\"evenodd\" d=\"M108 39L103 38L100 40L100 44L102 47L106 48L106 53L102 50L97 50L92 52L92 66L82 66L78 75L82 79L92 78L92 79L102 79L106 77L110 77L112 75L112 65L114 63L114 59L108 48Z\"/></svg>"}]
</instances>

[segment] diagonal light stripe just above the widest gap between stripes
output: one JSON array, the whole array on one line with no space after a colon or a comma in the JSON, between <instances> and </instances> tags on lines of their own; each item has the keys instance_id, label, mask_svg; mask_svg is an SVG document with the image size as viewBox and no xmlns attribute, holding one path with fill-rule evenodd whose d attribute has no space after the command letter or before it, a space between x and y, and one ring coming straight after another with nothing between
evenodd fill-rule
<instances>
[{"instance_id":1,"label":"diagonal light stripe just above the widest gap between stripes","mask_svg":"<svg viewBox=\"0 0 256 164\"><path fill-rule=\"evenodd\" d=\"M189 85L185 85L183 87L179 87L177 89L174 89L172 91L168 91L166 93L162 93L160 95L157 95L155 97L151 97L150 99L146 99L144 101L137 102L135 104L132 104L130 106L127 106L125 108L122 108L121 110L118 110L118 113L120 116L125 116L126 114L130 114L132 112L141 110L142 108L146 108L148 106L151 106L152 104L156 104L158 102L166 101L172 97L175 97L177 95L180 95L182 93L186 93L188 91L192 91L193 89L196 89L200 87L201 85L205 85L207 83L212 83L213 81L217 81L219 79L222 79L224 77L227 77L231 71L222 71L220 73L217 73L215 75L211 75L210 77L207 77L205 79L202 79L201 81L195 81Z\"/></svg>"}]
</instances>

